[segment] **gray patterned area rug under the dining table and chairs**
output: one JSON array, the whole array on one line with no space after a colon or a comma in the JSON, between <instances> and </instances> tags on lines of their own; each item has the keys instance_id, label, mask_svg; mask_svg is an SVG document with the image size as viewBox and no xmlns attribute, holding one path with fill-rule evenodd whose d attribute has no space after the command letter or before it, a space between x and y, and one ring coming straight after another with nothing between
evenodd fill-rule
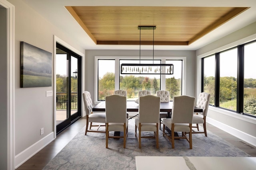
<instances>
[{"instance_id":1,"label":"gray patterned area rug under the dining table and chairs","mask_svg":"<svg viewBox=\"0 0 256 170\"><path fill-rule=\"evenodd\" d=\"M172 149L162 131L159 131L159 149L154 139L142 139L139 149L134 131L134 119L130 119L126 149L123 139L109 139L106 149L104 133L84 135L83 128L43 170L135 170L135 156L250 156L210 131L207 131L208 137L192 135L193 149L189 149L186 139L175 140L175 149Z\"/></svg>"}]
</instances>

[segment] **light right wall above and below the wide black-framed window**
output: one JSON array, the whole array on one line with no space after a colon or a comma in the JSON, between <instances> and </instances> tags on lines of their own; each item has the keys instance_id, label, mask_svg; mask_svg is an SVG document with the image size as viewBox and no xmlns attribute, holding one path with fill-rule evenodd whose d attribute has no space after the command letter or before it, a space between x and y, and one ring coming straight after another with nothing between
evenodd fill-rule
<instances>
[{"instance_id":1,"label":"light right wall above and below the wide black-framed window","mask_svg":"<svg viewBox=\"0 0 256 170\"><path fill-rule=\"evenodd\" d=\"M197 55L197 94L200 92L201 58L222 50L256 39L256 22L252 23L218 41L196 51ZM207 120L209 123L228 133L256 146L256 118L241 115L216 107L209 107Z\"/></svg>"}]
</instances>

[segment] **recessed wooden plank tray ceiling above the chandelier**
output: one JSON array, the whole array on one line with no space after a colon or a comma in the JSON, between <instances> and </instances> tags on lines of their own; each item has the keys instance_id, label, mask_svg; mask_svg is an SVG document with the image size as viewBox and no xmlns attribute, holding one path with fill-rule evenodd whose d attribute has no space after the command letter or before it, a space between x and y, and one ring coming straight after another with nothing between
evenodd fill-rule
<instances>
[{"instance_id":1,"label":"recessed wooden plank tray ceiling above the chandelier","mask_svg":"<svg viewBox=\"0 0 256 170\"><path fill-rule=\"evenodd\" d=\"M66 6L96 44L189 45L246 7Z\"/></svg>"}]
</instances>

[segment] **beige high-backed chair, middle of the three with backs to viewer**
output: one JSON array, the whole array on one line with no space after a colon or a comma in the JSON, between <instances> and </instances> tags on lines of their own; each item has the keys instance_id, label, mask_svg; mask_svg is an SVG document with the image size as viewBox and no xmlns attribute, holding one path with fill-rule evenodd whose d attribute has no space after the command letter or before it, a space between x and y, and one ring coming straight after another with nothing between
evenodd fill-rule
<instances>
[{"instance_id":1,"label":"beige high-backed chair, middle of the three with backs to viewer","mask_svg":"<svg viewBox=\"0 0 256 170\"><path fill-rule=\"evenodd\" d=\"M135 136L141 148L141 138L155 138L156 148L158 144L158 123L160 112L160 97L154 95L140 96L139 98L139 118L135 119ZM137 129L138 133L137 134ZM154 132L154 136L142 136L143 131Z\"/></svg>"}]
</instances>

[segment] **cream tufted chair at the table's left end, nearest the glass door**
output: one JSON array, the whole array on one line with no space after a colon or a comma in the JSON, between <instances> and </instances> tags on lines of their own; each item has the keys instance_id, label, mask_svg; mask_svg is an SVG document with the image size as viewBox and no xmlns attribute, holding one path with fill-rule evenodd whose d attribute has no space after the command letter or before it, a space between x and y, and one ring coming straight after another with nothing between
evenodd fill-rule
<instances>
[{"instance_id":1,"label":"cream tufted chair at the table's left end, nearest the glass door","mask_svg":"<svg viewBox=\"0 0 256 170\"><path fill-rule=\"evenodd\" d=\"M106 124L106 114L105 113L92 113L92 99L91 94L88 91L85 91L83 93L83 100L84 100L84 108L86 113L86 129L85 129L85 135L87 132L101 132L105 133L106 131L99 131L98 129L101 126L105 126ZM88 130L88 125L90 122L90 129ZM92 122L96 123L104 123L104 125L92 125ZM98 127L97 130L91 130L92 127Z\"/></svg>"}]
</instances>

